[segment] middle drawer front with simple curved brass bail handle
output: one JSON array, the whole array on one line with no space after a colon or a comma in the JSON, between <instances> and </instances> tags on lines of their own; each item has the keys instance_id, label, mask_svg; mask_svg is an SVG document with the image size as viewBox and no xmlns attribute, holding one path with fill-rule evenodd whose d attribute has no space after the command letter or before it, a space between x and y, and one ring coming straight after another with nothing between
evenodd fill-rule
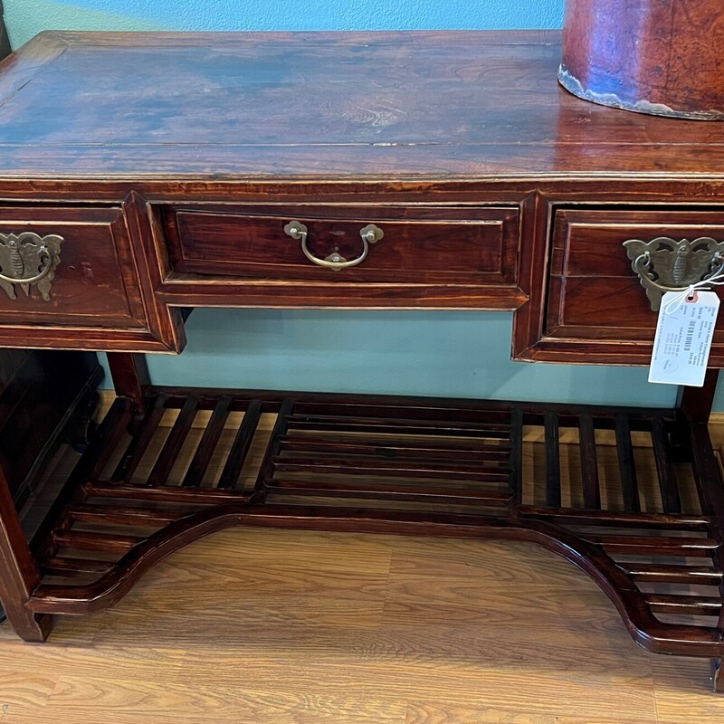
<instances>
[{"instance_id":1,"label":"middle drawer front with simple curved brass bail handle","mask_svg":"<svg viewBox=\"0 0 724 724\"><path fill-rule=\"evenodd\" d=\"M157 213L171 282L271 282L276 300L284 282L327 287L330 299L344 296L348 285L364 299L365 284L387 285L392 295L421 285L475 290L472 296L488 286L519 294L517 206L168 205ZM290 234L291 222L306 233ZM369 229L377 238L366 242ZM348 263L329 268L335 260ZM380 300L378 290L373 298Z\"/></svg>"}]
</instances>

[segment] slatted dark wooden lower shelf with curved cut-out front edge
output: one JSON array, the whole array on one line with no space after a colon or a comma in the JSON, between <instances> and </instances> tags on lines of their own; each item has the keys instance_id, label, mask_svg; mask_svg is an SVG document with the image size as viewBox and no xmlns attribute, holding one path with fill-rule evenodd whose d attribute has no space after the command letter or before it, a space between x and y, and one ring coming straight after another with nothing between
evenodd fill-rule
<instances>
[{"instance_id":1,"label":"slatted dark wooden lower shelf with curved cut-out front edge","mask_svg":"<svg viewBox=\"0 0 724 724\"><path fill-rule=\"evenodd\" d=\"M81 457L29 605L110 605L230 525L512 538L582 568L647 649L716 659L722 500L706 425L669 411L157 389Z\"/></svg>"}]
</instances>

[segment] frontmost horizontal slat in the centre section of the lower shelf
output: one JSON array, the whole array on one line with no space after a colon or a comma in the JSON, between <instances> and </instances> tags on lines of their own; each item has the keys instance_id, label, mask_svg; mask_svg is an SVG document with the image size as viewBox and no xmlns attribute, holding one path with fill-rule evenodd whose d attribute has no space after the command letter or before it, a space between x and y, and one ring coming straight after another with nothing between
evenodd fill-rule
<instances>
[{"instance_id":1,"label":"frontmost horizontal slat in the centre section of the lower shelf","mask_svg":"<svg viewBox=\"0 0 724 724\"><path fill-rule=\"evenodd\" d=\"M266 481L269 491L294 495L320 495L329 498L370 498L378 500L407 500L472 504L476 502L506 503L510 493L504 491L474 491L460 488L412 488L404 485L379 485L351 483L347 481Z\"/></svg>"}]
</instances>

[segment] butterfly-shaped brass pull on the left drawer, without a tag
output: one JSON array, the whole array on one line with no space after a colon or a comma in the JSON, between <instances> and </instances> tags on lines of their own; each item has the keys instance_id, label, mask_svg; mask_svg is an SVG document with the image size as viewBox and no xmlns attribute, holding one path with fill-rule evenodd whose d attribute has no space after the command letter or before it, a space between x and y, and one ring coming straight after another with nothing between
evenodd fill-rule
<instances>
[{"instance_id":1,"label":"butterfly-shaped brass pull on the left drawer, without a tag","mask_svg":"<svg viewBox=\"0 0 724 724\"><path fill-rule=\"evenodd\" d=\"M44 301L51 299L55 268L61 262L62 236L37 233L0 233L0 287L11 300L17 299L15 284L30 295L37 285Z\"/></svg>"}]
</instances>

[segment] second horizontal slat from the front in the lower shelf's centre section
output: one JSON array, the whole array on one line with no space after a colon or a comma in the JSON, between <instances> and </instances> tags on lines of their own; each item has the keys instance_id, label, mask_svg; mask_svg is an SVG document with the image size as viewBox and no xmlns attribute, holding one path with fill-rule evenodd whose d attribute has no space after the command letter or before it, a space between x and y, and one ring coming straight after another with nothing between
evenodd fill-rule
<instances>
[{"instance_id":1,"label":"second horizontal slat from the front in the lower shelf's centre section","mask_svg":"<svg viewBox=\"0 0 724 724\"><path fill-rule=\"evenodd\" d=\"M508 481L509 473L500 467L467 470L465 468L441 463L415 465L413 462L386 461L367 462L365 460L335 460L328 458L295 459L273 457L271 464L278 472L309 472L311 474L340 475L379 475L381 477L406 478L446 478L461 481Z\"/></svg>"}]
</instances>

